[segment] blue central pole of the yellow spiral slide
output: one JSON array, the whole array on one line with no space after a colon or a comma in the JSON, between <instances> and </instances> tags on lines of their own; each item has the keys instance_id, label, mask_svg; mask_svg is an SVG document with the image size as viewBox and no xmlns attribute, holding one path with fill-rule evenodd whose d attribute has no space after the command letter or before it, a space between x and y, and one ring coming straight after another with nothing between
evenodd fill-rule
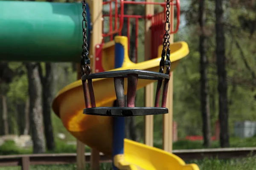
<instances>
[{"instance_id":1,"label":"blue central pole of the yellow spiral slide","mask_svg":"<svg viewBox=\"0 0 256 170\"><path fill-rule=\"evenodd\" d=\"M122 67L125 48L122 44L115 44L115 68ZM113 117L113 158L117 154L124 153L125 117ZM118 170L114 164L113 169Z\"/></svg>"}]
</instances>

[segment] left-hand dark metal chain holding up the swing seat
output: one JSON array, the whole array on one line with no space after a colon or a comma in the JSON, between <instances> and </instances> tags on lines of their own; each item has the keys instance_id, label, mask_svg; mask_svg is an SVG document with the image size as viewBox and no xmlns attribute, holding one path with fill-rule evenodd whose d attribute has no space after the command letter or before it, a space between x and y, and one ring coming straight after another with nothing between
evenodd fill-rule
<instances>
[{"instance_id":1,"label":"left-hand dark metal chain holding up the swing seat","mask_svg":"<svg viewBox=\"0 0 256 170\"><path fill-rule=\"evenodd\" d=\"M90 70L90 58L88 57L89 51L88 51L88 45L87 45L87 14L86 14L86 0L82 1L83 4L83 20L82 20L82 29L83 29L83 51L81 54L81 76L84 74L88 75L91 73Z\"/></svg>"}]
</instances>

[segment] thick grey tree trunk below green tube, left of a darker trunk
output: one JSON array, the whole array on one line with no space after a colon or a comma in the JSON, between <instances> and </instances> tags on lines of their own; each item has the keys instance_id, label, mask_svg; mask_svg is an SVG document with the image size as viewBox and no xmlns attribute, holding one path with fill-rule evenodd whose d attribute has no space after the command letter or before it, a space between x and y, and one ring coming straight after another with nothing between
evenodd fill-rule
<instances>
[{"instance_id":1,"label":"thick grey tree trunk below green tube, left of a darker trunk","mask_svg":"<svg viewBox=\"0 0 256 170\"><path fill-rule=\"evenodd\" d=\"M42 89L38 65L31 62L26 64L26 68L29 81L29 119L32 132L33 153L44 153Z\"/></svg>"}]
</instances>

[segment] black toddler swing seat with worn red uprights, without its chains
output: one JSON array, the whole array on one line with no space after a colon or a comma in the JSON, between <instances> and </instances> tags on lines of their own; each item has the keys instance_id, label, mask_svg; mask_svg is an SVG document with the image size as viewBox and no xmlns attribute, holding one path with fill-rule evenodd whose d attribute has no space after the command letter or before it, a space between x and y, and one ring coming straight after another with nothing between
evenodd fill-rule
<instances>
[{"instance_id":1,"label":"black toddler swing seat with worn red uprights, without its chains","mask_svg":"<svg viewBox=\"0 0 256 170\"><path fill-rule=\"evenodd\" d=\"M116 91L116 102L118 107L96 107L92 79L111 78L111 77L114 80L115 91ZM128 79L127 102L125 101L124 78ZM160 83L160 87L161 87L163 80L168 85L168 82L170 79L169 74L134 69L134 70L106 71L101 73L93 73L89 75L84 75L81 77L81 79L83 81L84 99L85 99L85 105L86 105L86 108L84 109L84 112L83 112L84 114L98 115L98 116L144 116L144 115L157 115L157 114L168 113L168 108L165 108L165 104L164 104L164 107L158 107L159 95L158 95L158 99L156 95L155 107L134 107L134 104L135 104L135 96L136 96L138 79L158 80L158 83ZM159 85L157 85L157 87L158 86ZM160 88L157 88L157 90L160 91ZM90 101L89 101L89 94L90 94ZM163 106L163 102L166 102L167 91L166 92L163 91L163 94L166 94L166 95L163 95L163 98L165 98L165 100L163 99L164 101L162 101L162 106ZM91 103L91 107L90 107L90 103ZM127 107L125 105L127 105Z\"/></svg>"}]
</instances>

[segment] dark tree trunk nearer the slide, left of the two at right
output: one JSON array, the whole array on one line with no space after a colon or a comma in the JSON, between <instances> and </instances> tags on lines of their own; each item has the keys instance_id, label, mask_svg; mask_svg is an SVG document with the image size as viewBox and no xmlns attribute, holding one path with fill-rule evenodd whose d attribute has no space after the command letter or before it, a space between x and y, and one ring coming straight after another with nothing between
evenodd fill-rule
<instances>
[{"instance_id":1,"label":"dark tree trunk nearer the slide, left of the two at right","mask_svg":"<svg viewBox=\"0 0 256 170\"><path fill-rule=\"evenodd\" d=\"M205 0L199 1L199 24L201 28L199 51L200 51L200 74L201 74L201 113L203 118L204 146L211 146L211 117L209 105L209 82L207 78L207 35L205 33Z\"/></svg>"}]
</instances>

